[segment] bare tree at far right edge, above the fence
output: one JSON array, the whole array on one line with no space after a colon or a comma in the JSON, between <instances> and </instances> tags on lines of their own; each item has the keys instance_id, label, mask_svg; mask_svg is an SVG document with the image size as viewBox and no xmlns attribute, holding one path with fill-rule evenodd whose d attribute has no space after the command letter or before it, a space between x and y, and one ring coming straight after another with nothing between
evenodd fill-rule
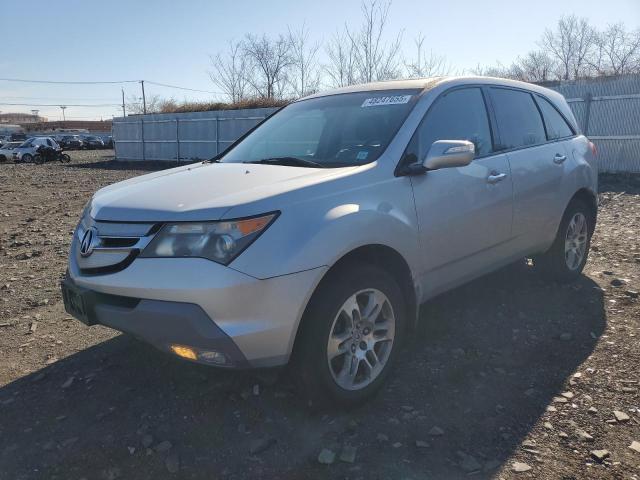
<instances>
[{"instance_id":1,"label":"bare tree at far right edge, above the fence","mask_svg":"<svg viewBox=\"0 0 640 480\"><path fill-rule=\"evenodd\" d=\"M628 32L624 24L599 32L589 63L597 75L624 75L640 71L640 30Z\"/></svg>"}]
</instances>

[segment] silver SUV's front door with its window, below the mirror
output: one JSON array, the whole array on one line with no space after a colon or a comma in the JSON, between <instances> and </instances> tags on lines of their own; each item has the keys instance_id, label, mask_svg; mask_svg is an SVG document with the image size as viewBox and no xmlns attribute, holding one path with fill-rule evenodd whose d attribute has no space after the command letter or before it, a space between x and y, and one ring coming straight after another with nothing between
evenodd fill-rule
<instances>
[{"instance_id":1,"label":"silver SUV's front door with its window, below the mirror","mask_svg":"<svg viewBox=\"0 0 640 480\"><path fill-rule=\"evenodd\" d=\"M466 167L411 177L427 295L470 279L508 257L505 244L512 221L509 162L494 151L481 88L456 88L436 99L406 156L423 159L436 140L469 140L475 144L476 159Z\"/></svg>"}]
</instances>

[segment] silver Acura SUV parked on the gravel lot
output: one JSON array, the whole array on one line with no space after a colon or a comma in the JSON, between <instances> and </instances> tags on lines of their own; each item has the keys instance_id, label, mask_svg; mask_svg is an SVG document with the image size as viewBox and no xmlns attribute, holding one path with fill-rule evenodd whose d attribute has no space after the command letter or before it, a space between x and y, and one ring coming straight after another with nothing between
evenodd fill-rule
<instances>
[{"instance_id":1,"label":"silver Acura SUV parked on the gravel lot","mask_svg":"<svg viewBox=\"0 0 640 480\"><path fill-rule=\"evenodd\" d=\"M289 363L341 403L380 387L420 304L523 258L578 277L595 147L561 95L494 78L290 104L223 155L98 191L67 310L218 367Z\"/></svg>"}]
</instances>

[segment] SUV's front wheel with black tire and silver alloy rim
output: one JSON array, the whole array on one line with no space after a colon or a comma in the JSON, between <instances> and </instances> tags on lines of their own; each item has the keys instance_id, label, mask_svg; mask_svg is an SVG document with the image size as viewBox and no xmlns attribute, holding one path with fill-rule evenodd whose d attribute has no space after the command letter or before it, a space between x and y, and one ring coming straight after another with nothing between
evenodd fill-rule
<instances>
[{"instance_id":1,"label":"SUV's front wheel with black tire and silver alloy rim","mask_svg":"<svg viewBox=\"0 0 640 480\"><path fill-rule=\"evenodd\" d=\"M394 278L373 265L352 264L329 275L304 314L293 369L309 405L355 406L389 375L404 337L406 305Z\"/></svg>"}]
</instances>

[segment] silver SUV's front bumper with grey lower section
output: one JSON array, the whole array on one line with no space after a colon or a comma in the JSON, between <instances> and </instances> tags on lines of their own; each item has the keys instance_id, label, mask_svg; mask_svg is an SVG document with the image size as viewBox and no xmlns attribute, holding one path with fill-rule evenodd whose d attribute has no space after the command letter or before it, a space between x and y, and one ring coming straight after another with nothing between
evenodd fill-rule
<instances>
[{"instance_id":1,"label":"silver SUV's front bumper with grey lower section","mask_svg":"<svg viewBox=\"0 0 640 480\"><path fill-rule=\"evenodd\" d=\"M165 351L171 344L219 349L234 367L288 362L304 309L326 272L319 267L260 280L200 258L137 258L116 273L83 275L74 246L67 281L93 292L95 323Z\"/></svg>"}]
</instances>

